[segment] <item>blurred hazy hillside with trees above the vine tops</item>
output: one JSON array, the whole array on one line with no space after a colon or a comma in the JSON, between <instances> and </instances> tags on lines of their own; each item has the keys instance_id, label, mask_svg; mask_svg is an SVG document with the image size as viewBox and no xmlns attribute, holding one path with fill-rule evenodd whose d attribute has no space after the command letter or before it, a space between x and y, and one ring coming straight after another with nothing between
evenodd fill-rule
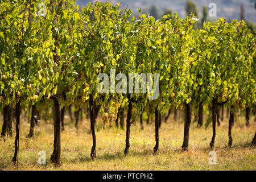
<instances>
[{"instance_id":1,"label":"blurred hazy hillside with trees above the vine tops","mask_svg":"<svg viewBox=\"0 0 256 182\"><path fill-rule=\"evenodd\" d=\"M101 0L98 0L101 1ZM77 0L77 5L87 6L89 2L96 0ZM106 2L102 0L101 2ZM143 14L150 14L155 19L159 19L164 14L177 14L181 18L185 18L188 14L195 14L199 18L199 22L195 28L200 28L203 22L214 21L217 18L226 18L228 22L233 19L245 20L251 31L256 31L256 0L112 0L113 5L120 3L123 8L128 5L128 9L133 10L133 15L137 16L137 7L142 10ZM216 14L213 13L216 5Z\"/></svg>"}]
</instances>

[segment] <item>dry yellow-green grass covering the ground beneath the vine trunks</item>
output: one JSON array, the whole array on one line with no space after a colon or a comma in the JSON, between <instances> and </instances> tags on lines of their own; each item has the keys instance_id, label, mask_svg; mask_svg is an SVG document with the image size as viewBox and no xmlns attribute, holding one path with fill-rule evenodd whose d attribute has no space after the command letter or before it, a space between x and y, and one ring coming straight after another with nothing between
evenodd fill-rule
<instances>
[{"instance_id":1,"label":"dry yellow-green grass covering the ground beneath the vine trunks","mask_svg":"<svg viewBox=\"0 0 256 182\"><path fill-rule=\"evenodd\" d=\"M244 114L243 114L244 115ZM216 129L215 148L217 164L210 165L209 142L212 127L198 129L196 122L191 123L189 149L181 152L184 123L173 116L162 123L159 130L159 152L154 154L154 123L141 130L139 122L131 126L130 151L125 156L126 131L106 127L102 129L101 118L97 120L97 147L95 160L90 159L92 136L89 120L80 121L79 129L66 117L65 131L61 133L61 166L54 166L49 158L53 151L53 124L42 121L36 127L35 137L28 139L29 124L22 119L20 125L19 164L11 163L14 155L14 137L0 139L0 170L256 170L255 147L251 147L256 122L251 116L250 125L245 126L245 117L238 117L232 130L233 147L228 147L228 119L225 117ZM205 117L207 115L205 114ZM1 116L2 118L2 116ZM206 121L207 118L204 118ZM26 121L24 121L26 120ZM0 123L2 125L2 123ZM15 135L15 133L14 133ZM38 164L38 152L46 151L47 164Z\"/></svg>"}]
</instances>

